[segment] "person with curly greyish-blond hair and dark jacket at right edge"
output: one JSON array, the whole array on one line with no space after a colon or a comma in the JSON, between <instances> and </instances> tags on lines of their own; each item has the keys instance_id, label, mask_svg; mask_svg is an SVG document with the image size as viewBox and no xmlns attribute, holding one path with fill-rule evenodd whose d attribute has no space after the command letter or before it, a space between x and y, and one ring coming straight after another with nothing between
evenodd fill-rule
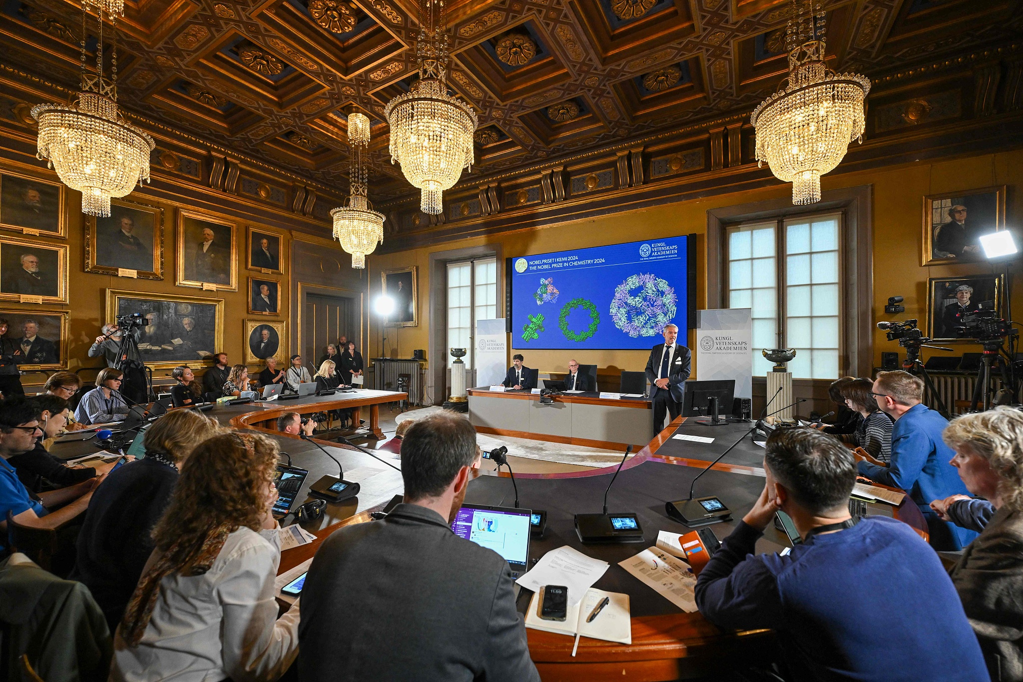
<instances>
[{"instance_id":1,"label":"person with curly greyish-blond hair and dark jacket at right edge","mask_svg":"<svg viewBox=\"0 0 1023 682\"><path fill-rule=\"evenodd\" d=\"M964 414L942 438L967 490L934 500L942 518L980 535L949 572L993 682L1023 681L1023 412Z\"/></svg>"}]
</instances>

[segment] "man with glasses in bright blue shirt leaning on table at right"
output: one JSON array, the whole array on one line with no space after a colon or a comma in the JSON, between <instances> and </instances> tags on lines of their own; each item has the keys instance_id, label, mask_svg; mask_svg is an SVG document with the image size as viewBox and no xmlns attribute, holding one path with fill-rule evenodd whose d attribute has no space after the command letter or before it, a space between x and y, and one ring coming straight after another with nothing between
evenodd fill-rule
<instances>
[{"instance_id":1,"label":"man with glasses in bright blue shirt leaning on table at right","mask_svg":"<svg viewBox=\"0 0 1023 682\"><path fill-rule=\"evenodd\" d=\"M878 373L874 398L881 411L895 420L891 459L885 464L854 453L859 460L856 470L871 481L904 490L927 519L931 546L939 551L959 551L977 537L977 532L942 520L931 502L970 492L949 463L955 453L941 440L948 420L923 405L923 395L920 377L901 370Z\"/></svg>"}]
</instances>

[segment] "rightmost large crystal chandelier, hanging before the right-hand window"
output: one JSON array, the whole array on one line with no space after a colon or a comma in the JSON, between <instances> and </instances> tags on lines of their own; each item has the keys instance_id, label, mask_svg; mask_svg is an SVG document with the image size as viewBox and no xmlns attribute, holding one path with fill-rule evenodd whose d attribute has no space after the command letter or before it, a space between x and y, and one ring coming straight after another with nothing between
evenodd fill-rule
<instances>
[{"instance_id":1,"label":"rightmost large crystal chandelier, hanging before the right-hand window","mask_svg":"<svg viewBox=\"0 0 1023 682\"><path fill-rule=\"evenodd\" d=\"M788 85L754 109L758 165L792 183L792 202L820 200L820 176L845 156L852 140L862 142L863 100L871 81L836 74L825 64L825 12L810 1L792 0L786 30Z\"/></svg>"}]
</instances>

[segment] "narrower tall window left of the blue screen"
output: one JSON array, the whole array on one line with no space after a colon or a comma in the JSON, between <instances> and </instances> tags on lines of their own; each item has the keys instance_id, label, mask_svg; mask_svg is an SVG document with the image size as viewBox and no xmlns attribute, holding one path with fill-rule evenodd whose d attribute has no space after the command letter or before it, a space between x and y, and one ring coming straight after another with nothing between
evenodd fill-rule
<instances>
[{"instance_id":1,"label":"narrower tall window left of the blue screen","mask_svg":"<svg viewBox=\"0 0 1023 682\"><path fill-rule=\"evenodd\" d=\"M472 368L477 320L497 317L497 260L448 263L448 348L464 348L462 361ZM448 354L448 366L454 358Z\"/></svg>"}]
</instances>

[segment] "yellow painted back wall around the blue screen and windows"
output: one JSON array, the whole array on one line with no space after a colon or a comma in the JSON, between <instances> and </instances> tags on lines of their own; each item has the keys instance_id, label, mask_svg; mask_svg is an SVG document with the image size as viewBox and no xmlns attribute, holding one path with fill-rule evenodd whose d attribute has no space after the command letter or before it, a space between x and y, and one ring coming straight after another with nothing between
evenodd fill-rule
<instances>
[{"instance_id":1,"label":"yellow painted back wall around the blue screen and windows","mask_svg":"<svg viewBox=\"0 0 1023 682\"><path fill-rule=\"evenodd\" d=\"M874 186L874 321L919 318L926 330L927 280L929 277L959 276L990 272L983 264L922 267L923 197L950 191L1008 185L1009 202L1007 223L1010 227L1023 224L1020 207L1013 200L1023 187L1023 150L997 154L946 161L904 164L881 170L864 171L824 178L824 189L837 189L858 185ZM623 241L656 239L679 234L697 233L698 257L698 307L706 307L707 211L739 203L791 196L791 186L777 185L733 194L723 194L707 199L680 201L653 209L628 213L609 214L598 218L562 223L510 234L473 239L452 240L426 248L368 257L369 300L381 292L384 270L418 266L418 319L417 327L388 328L388 347L397 348L402 356L411 355L412 349L429 348L430 319L430 254L437 251L464 248L487 243L501 244L505 258L544 254L599 246ZM1014 280L1013 302L1016 310L1023 308L1023 290L1019 277ZM890 295L905 298L906 312L888 316L884 306ZM503 305L501 303L501 305ZM437 320L437 324L444 324ZM370 316L369 346L375 356L381 351L380 319ZM884 332L875 332L874 362L881 363L883 351L900 350L895 342L888 342ZM978 351L979 347L955 345L955 354ZM514 346L513 346L514 352ZM902 353L901 355L904 355ZM642 370L647 351L587 351L576 352L574 357L584 364L596 364L602 372ZM926 352L924 357L929 357ZM526 364L541 372L568 370L569 354L566 351L529 351Z\"/></svg>"}]
</instances>

